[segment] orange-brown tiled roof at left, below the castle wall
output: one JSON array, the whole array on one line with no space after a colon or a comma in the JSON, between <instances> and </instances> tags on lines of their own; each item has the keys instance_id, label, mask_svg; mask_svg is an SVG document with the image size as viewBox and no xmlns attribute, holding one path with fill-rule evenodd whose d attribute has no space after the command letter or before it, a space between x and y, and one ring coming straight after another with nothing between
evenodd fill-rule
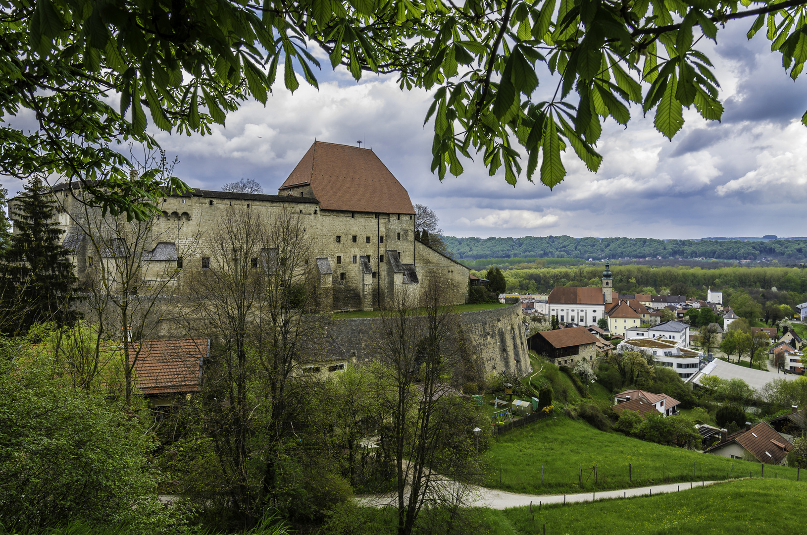
<instances>
[{"instance_id":1,"label":"orange-brown tiled roof at left, below the castle wall","mask_svg":"<svg viewBox=\"0 0 807 535\"><path fill-rule=\"evenodd\" d=\"M137 386L145 395L199 391L207 338L133 341Z\"/></svg>"}]
</instances>

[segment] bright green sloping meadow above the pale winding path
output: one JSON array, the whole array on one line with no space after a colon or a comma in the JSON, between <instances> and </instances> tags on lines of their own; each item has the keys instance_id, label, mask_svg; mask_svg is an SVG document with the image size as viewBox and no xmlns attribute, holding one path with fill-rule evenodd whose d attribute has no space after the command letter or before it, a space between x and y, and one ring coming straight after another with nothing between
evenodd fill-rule
<instances>
[{"instance_id":1,"label":"bright green sloping meadow above the pale winding path","mask_svg":"<svg viewBox=\"0 0 807 535\"><path fill-rule=\"evenodd\" d=\"M559 416L527 424L494 441L480 458L487 473L483 486L525 494L571 494L761 475L762 465L756 462L604 433L582 420L570 420L562 412L555 414ZM579 483L581 468L583 481ZM764 475L795 480L796 470L766 466Z\"/></svg>"}]
</instances>

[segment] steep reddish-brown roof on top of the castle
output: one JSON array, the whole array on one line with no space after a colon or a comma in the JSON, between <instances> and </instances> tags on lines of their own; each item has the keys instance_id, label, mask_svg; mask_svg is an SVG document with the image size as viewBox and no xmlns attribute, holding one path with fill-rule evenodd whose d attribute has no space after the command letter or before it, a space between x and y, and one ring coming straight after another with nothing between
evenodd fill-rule
<instances>
[{"instance_id":1,"label":"steep reddish-brown roof on top of the castle","mask_svg":"<svg viewBox=\"0 0 807 535\"><path fill-rule=\"evenodd\" d=\"M415 213L407 190L367 148L315 141L278 194L306 184L324 210Z\"/></svg>"}]
</instances>

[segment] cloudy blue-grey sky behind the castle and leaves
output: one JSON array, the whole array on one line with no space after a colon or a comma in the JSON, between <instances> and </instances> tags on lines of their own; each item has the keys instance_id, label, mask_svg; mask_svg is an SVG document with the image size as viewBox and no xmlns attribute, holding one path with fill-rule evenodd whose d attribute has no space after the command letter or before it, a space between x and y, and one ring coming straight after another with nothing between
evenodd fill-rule
<instances>
[{"instance_id":1,"label":"cloudy blue-grey sky behind the castle and leaves","mask_svg":"<svg viewBox=\"0 0 807 535\"><path fill-rule=\"evenodd\" d=\"M627 129L605 124L600 171L588 172L570 149L567 179L552 191L525 177L508 186L504 173L488 177L470 161L461 177L441 183L429 172L432 125L423 127L430 95L400 90L395 77L355 83L329 67L319 74L320 90L302 85L292 95L278 85L266 107L245 103L212 135L161 132L157 139L178 156L175 172L191 186L218 189L254 178L266 193L276 193L315 138L364 140L412 202L437 211L453 236L804 236L807 127L799 119L807 80L788 77L763 32L747 41L750 23L728 24L717 46L703 48L722 85L721 123L684 110L684 129L668 141L654 130L652 114L642 118L634 105ZM552 90L541 77L539 99Z\"/></svg>"}]
</instances>

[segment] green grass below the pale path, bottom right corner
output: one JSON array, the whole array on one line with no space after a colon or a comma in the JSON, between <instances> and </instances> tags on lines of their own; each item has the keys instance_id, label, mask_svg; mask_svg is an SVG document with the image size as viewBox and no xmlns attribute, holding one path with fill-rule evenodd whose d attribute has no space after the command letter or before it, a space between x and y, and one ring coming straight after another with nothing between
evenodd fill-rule
<instances>
[{"instance_id":1,"label":"green grass below the pale path, bottom right corner","mask_svg":"<svg viewBox=\"0 0 807 535\"><path fill-rule=\"evenodd\" d=\"M490 535L702 535L805 533L807 482L745 479L675 494L608 499L593 504L480 511ZM546 532L544 531L546 529Z\"/></svg>"}]
</instances>

